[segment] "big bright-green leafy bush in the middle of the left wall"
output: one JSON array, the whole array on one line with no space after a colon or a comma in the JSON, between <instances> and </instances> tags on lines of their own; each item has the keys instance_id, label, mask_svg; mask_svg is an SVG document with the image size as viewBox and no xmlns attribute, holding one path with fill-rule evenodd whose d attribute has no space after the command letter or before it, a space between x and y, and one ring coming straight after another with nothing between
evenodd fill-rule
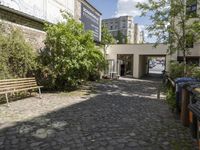
<instances>
[{"instance_id":1,"label":"big bright-green leafy bush in the middle of the left wall","mask_svg":"<svg viewBox=\"0 0 200 150\"><path fill-rule=\"evenodd\" d=\"M47 25L46 46L39 57L43 85L59 90L76 87L91 74L99 73L105 65L92 33L71 17L63 16L66 21Z\"/></svg>"}]
</instances>

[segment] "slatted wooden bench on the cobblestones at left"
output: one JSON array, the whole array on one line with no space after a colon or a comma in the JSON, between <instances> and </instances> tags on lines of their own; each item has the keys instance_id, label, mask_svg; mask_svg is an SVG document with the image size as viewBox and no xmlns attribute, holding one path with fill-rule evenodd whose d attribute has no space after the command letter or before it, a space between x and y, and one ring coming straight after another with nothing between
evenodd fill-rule
<instances>
[{"instance_id":1,"label":"slatted wooden bench on the cobblestones at left","mask_svg":"<svg viewBox=\"0 0 200 150\"><path fill-rule=\"evenodd\" d=\"M5 94L6 101L9 106L8 94L13 94L21 91L32 91L38 89L39 97L41 98L42 86L38 86L35 78L19 78L0 80L0 95Z\"/></svg>"}]
</instances>

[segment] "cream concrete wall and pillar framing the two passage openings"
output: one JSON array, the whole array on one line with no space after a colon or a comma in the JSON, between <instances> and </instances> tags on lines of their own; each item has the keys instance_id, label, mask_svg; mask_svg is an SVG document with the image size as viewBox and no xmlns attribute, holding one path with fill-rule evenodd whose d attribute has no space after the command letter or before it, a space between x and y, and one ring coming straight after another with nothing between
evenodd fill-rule
<instances>
[{"instance_id":1,"label":"cream concrete wall and pillar framing the two passage openings","mask_svg":"<svg viewBox=\"0 0 200 150\"><path fill-rule=\"evenodd\" d=\"M153 44L122 44L111 45L107 49L107 59L115 60L117 64L117 54L133 54L133 77L140 78L147 73L147 56L166 56L167 45L160 44L156 48ZM169 56L166 58L169 60ZM166 64L168 66L168 62ZM117 67L117 65L115 65ZM117 70L117 68L115 68Z\"/></svg>"}]
</instances>

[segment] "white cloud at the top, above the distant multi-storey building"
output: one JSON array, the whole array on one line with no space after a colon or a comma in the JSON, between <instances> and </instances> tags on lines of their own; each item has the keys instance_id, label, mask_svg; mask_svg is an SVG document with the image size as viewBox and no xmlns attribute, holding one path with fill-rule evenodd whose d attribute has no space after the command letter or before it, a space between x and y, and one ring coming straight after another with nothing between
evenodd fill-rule
<instances>
[{"instance_id":1,"label":"white cloud at the top, above the distant multi-storey building","mask_svg":"<svg viewBox=\"0 0 200 150\"><path fill-rule=\"evenodd\" d=\"M140 10L136 8L138 2L148 2L148 0L118 0L117 11L115 12L115 16L139 16Z\"/></svg>"}]
</instances>

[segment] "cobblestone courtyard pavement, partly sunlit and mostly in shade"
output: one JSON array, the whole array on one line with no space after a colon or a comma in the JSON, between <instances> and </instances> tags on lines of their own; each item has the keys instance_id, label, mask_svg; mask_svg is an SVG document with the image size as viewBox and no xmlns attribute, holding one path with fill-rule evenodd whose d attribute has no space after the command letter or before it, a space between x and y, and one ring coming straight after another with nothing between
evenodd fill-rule
<instances>
[{"instance_id":1,"label":"cobblestone courtyard pavement, partly sunlit and mostly in shade","mask_svg":"<svg viewBox=\"0 0 200 150\"><path fill-rule=\"evenodd\" d=\"M158 81L92 83L0 106L2 150L190 150L189 129L157 100Z\"/></svg>"}]
</instances>

